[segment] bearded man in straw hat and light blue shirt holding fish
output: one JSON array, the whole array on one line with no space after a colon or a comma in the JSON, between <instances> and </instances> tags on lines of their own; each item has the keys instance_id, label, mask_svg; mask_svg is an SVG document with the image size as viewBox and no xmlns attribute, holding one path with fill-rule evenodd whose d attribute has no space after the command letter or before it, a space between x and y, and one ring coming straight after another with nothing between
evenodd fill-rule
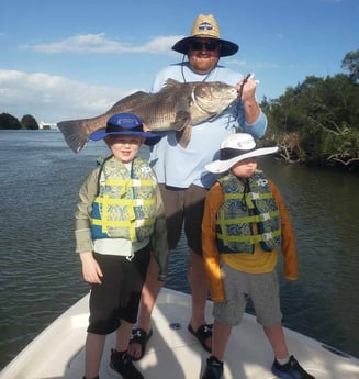
<instances>
[{"instance_id":1,"label":"bearded man in straw hat and light blue shirt holding fish","mask_svg":"<svg viewBox=\"0 0 359 379\"><path fill-rule=\"evenodd\" d=\"M178 143L176 131L171 130L166 132L150 153L150 163L165 203L169 248L176 247L183 226L190 250L188 280L192 291L192 315L188 330L204 349L211 352L212 325L206 324L204 317L209 286L202 258L201 222L204 199L215 177L204 166L215 157L220 142L238 132L238 127L260 138L267 129L267 118L256 101L257 82L253 76L244 78L242 74L218 65L221 57L234 55L238 46L220 38L218 25L213 15L200 14L194 21L191 35L178 41L172 49L183 54L183 60L157 75L154 92L160 91L168 79L184 83L221 81L236 87L238 91L237 99L221 114L191 129L186 147ZM157 278L158 266L152 258L143 288L137 326L133 330L128 348L134 360L143 357L146 343L152 336L150 313L164 285Z\"/></svg>"}]
</instances>

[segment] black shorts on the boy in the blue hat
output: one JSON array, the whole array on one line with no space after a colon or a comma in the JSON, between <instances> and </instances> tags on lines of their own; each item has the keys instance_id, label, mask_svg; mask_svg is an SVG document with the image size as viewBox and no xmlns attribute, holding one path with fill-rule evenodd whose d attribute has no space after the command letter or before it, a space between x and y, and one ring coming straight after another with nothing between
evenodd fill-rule
<instances>
[{"instance_id":1,"label":"black shorts on the boy in the blue hat","mask_svg":"<svg viewBox=\"0 0 359 379\"><path fill-rule=\"evenodd\" d=\"M92 285L88 332L106 335L120 326L120 320L134 324L137 320L142 287L149 263L149 246L126 257L93 253L101 267L101 285Z\"/></svg>"}]
</instances>

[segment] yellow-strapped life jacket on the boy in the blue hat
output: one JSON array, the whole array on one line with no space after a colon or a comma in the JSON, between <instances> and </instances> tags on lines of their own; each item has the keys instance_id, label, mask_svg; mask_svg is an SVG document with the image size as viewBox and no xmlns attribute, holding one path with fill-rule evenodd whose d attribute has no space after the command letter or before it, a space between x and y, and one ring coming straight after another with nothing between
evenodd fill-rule
<instances>
[{"instance_id":1,"label":"yellow-strapped life jacket on the boy in the blue hat","mask_svg":"<svg viewBox=\"0 0 359 379\"><path fill-rule=\"evenodd\" d=\"M92 203L92 238L142 242L154 231L156 182L147 160L135 158L131 172L114 157L99 172L99 193Z\"/></svg>"}]
</instances>

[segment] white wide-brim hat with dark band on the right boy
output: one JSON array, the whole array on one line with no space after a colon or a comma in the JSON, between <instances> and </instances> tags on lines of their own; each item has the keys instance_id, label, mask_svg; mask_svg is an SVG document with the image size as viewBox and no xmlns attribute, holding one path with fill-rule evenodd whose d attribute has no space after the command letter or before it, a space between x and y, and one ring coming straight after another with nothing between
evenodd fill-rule
<instances>
[{"instance_id":1,"label":"white wide-brim hat with dark band on the right boy","mask_svg":"<svg viewBox=\"0 0 359 379\"><path fill-rule=\"evenodd\" d=\"M277 151L277 146L256 148L256 141L250 134L237 133L221 143L220 159L205 165L205 168L210 172L222 174L243 159L273 154Z\"/></svg>"}]
</instances>

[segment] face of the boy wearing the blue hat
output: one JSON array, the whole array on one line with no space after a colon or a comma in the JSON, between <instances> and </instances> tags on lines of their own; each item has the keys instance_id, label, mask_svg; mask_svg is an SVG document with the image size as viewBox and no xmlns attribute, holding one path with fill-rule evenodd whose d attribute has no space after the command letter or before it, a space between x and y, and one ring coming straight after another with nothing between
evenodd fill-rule
<instances>
[{"instance_id":1,"label":"face of the boy wearing the blue hat","mask_svg":"<svg viewBox=\"0 0 359 379\"><path fill-rule=\"evenodd\" d=\"M139 147L145 142L145 138L136 135L109 135L104 141L110 147L113 156L126 164L137 156Z\"/></svg>"}]
</instances>

